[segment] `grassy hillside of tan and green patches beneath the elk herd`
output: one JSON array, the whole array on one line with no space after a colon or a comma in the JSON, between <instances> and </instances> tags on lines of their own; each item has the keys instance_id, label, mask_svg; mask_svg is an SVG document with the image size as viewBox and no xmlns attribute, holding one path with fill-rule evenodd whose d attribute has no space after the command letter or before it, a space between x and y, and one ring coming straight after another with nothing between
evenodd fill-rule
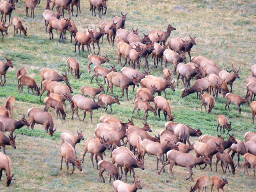
<instances>
[{"instance_id":1,"label":"grassy hillside of tan and green patches beneath the elk herd","mask_svg":"<svg viewBox=\"0 0 256 192\"><path fill-rule=\"evenodd\" d=\"M175 10L176 5L181 5L191 12ZM74 94L80 93L80 88L83 85L97 87L95 79L90 84L92 74L87 72L87 50L85 56L74 53L74 43L69 44L70 36L67 34L65 44L59 43L58 35L54 31L54 39L49 41L49 34L45 33L45 25L42 14L44 12L45 1L35 9L35 18L30 19L25 14L24 1L20 1L15 5L16 10L12 13L13 16L19 16L22 19L25 27L28 27L27 37L13 37L12 26L9 29L9 34L4 36L4 42L0 42L0 60L4 61L4 57L13 57L14 68L8 69L7 83L4 87L0 87L0 105L4 105L4 101L10 95L16 98L14 118L20 119L22 114L27 114L27 110L35 106L43 109L44 105L39 102L39 97L26 94L18 94L18 80L16 71L19 68L25 67L28 75L33 77L38 84L41 82L39 71L43 67L56 69L58 72L67 71L67 58L74 57L80 62L82 77L75 80L74 77L69 77L69 82L73 88ZM55 8L54 8L55 10ZM72 17L79 31L84 31L86 26L94 28L101 26L105 20L112 22L114 16L120 16L121 11L128 13L125 29L131 30L131 27L137 28L139 35L149 33L151 29L166 30L167 25L171 23L176 31L172 31L170 37L184 37L188 39L189 34L197 36L196 46L192 48L192 56L205 56L214 60L219 67L223 69L231 69L231 64L235 67L239 66L240 79L236 79L233 84L233 92L243 96L246 91L246 78L251 75L250 67L255 64L255 47L256 47L256 3L255 1L223 1L223 0L192 0L192 1L172 1L172 0L153 0L153 1L135 1L135 0L110 0L108 1L108 10L102 19L91 16L89 11L89 2L81 1L82 14L78 17ZM65 16L67 12L65 11ZM96 48L96 51L98 49ZM116 65L118 72L121 66L117 65L117 49L116 42L114 46L110 46L104 37L103 45L101 46L100 55L108 54L110 63L104 64L105 67ZM188 56L188 55L187 55ZM122 61L124 58L122 57ZM187 60L188 61L188 60ZM153 67L153 60L149 59L151 74L162 76L160 68ZM144 59L142 59L144 69ZM172 68L172 65L169 65ZM91 66L93 68L93 66ZM174 77L177 78L177 77ZM100 82L102 79L99 78ZM194 83L194 80L191 82ZM104 86L106 88L106 85ZM237 106L230 105L230 112L224 111L226 98L217 98L217 103L214 106L211 114L204 111L200 112L201 101L196 100L196 94L189 95L181 99L181 93L184 87L180 84L176 86L176 91L166 90L166 98L172 104L172 111L177 118L175 122L188 124L193 128L200 128L203 134L216 135L217 117L223 114L232 122L232 132L236 138L244 140L244 133L247 131L255 131L255 125L251 124L251 109L249 105L242 105L242 113L238 114ZM135 92L136 93L136 92ZM121 98L120 105L114 104L113 117L126 121L127 118L133 117L135 125L141 127L142 120L139 120L135 112L131 116L133 109L132 98L135 96L132 89L129 89L129 99ZM114 87L114 94L121 95L119 88ZM46 94L44 94L45 96ZM42 99L43 100L43 99ZM154 118L153 113L149 112L148 123L153 130L152 135L158 135L164 129L163 114L161 120ZM1 191L113 191L112 184L102 184L99 182L98 170L93 168L90 161L90 155L86 154L86 161L82 165L83 171L80 173L77 169L70 177L66 176L66 168L60 171L60 147L61 132L71 132L76 134L77 130L82 130L84 138L94 136L94 129L99 123L99 117L110 115L100 110L93 112L93 124L90 124L89 114L84 122L79 122L74 116L71 120L71 109L67 107L66 120L57 120L54 115L54 124L57 131L53 137L47 135L41 125L35 125L34 131L27 130L25 127L15 131L17 134L16 146L14 150L10 146L7 147L7 155L12 161L12 173L16 181L11 183L9 188L5 187L6 178L3 177L0 183ZM82 116L81 110L79 111ZM141 112L144 117L143 112ZM227 139L227 136L224 136ZM192 143L195 143L198 138L192 138ZM76 146L76 153L79 158L83 155L84 142ZM194 154L194 152L192 152ZM105 159L110 160L110 152L106 152ZM243 158L242 162L244 161ZM235 164L237 158L235 157ZM215 159L213 160L213 167ZM168 166L169 167L169 166ZM185 181L189 172L186 168L175 166L173 168L175 178L170 176L170 173L161 173L157 175L156 159L152 156L145 156L145 170L136 169L136 175L143 175L141 191L189 191L190 186L194 185L191 180ZM166 167L166 170L168 168ZM215 170L215 168L213 168ZM198 167L193 169L193 178L206 174L208 177L215 174L219 177L227 177L229 184L226 185L225 191L256 191L254 186L255 179L252 177L252 171L249 170L250 176L243 174L243 167L238 167L236 175L230 173L223 174L220 164L218 172L210 172L209 167L201 171ZM5 174L5 173L4 173ZM105 180L108 180L108 175L104 174ZM132 183L132 178L128 178L128 182ZM210 182L208 183L208 191L210 190Z\"/></svg>"}]
</instances>

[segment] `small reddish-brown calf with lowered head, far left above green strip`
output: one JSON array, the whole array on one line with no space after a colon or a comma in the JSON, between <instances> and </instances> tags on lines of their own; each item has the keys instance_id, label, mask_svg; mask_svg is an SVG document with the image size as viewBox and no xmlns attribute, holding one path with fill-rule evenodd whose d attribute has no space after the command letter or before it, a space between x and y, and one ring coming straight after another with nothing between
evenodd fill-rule
<instances>
[{"instance_id":1,"label":"small reddish-brown calf with lowered head, far left above green strip","mask_svg":"<svg viewBox=\"0 0 256 192\"><path fill-rule=\"evenodd\" d=\"M20 75L18 79L19 79L18 93L19 93L19 90L21 89L21 92L23 94L23 86L26 85L27 94L29 94L30 89L32 91L32 94L34 94L34 91L33 91L34 89L35 92L37 93L37 96L39 96L40 88L37 86L37 83L33 78L30 78L29 76L26 76L26 75Z\"/></svg>"}]
</instances>

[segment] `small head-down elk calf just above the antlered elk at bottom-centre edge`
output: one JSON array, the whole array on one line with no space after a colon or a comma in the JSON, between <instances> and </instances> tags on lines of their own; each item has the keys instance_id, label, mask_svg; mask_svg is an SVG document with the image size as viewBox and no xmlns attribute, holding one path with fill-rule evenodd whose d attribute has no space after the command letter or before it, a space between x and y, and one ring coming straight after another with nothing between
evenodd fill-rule
<instances>
[{"instance_id":1,"label":"small head-down elk calf just above the antlered elk at bottom-centre edge","mask_svg":"<svg viewBox=\"0 0 256 192\"><path fill-rule=\"evenodd\" d=\"M100 170L99 171L99 179L101 180L101 178L102 178L103 183L105 183L105 179L103 177L104 171L109 172L109 182L111 182L112 177L113 177L114 181L115 181L115 177L116 177L116 180L122 179L117 167L114 164L112 164L106 160L101 160L101 161L99 161L98 165L99 165L99 170Z\"/></svg>"}]
</instances>

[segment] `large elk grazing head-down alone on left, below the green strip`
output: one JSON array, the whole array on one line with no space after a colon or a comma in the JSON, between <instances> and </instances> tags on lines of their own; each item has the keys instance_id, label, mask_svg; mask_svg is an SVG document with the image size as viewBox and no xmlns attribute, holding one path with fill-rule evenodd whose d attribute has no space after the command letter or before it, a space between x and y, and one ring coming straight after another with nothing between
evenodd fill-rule
<instances>
[{"instance_id":1,"label":"large elk grazing head-down alone on left, below the green strip","mask_svg":"<svg viewBox=\"0 0 256 192\"><path fill-rule=\"evenodd\" d=\"M33 107L27 111L27 115L29 116L28 127L31 125L31 129L34 130L36 123L39 125L44 125L46 133L48 133L49 130L49 135L53 136L53 133L57 128L54 129L53 117L50 113Z\"/></svg>"}]
</instances>

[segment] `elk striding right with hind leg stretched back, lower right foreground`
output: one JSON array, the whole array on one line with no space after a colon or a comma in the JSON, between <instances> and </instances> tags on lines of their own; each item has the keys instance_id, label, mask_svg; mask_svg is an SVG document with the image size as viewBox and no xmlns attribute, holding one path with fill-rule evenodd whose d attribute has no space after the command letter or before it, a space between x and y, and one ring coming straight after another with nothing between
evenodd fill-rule
<instances>
[{"instance_id":1,"label":"elk striding right with hind leg stretched back, lower right foreground","mask_svg":"<svg viewBox=\"0 0 256 192\"><path fill-rule=\"evenodd\" d=\"M197 158L194 155L191 155L189 153L182 153L177 150L168 151L167 157L168 157L168 161L163 163L163 166L159 170L158 175L161 173L162 169L166 165L171 164L170 172L171 172L172 176L174 177L172 169L173 169L174 165L178 165L181 167L186 167L188 169L190 176L188 178L186 178L186 180L191 178L191 180L194 181L193 177L192 177L192 175L193 175L192 168L195 167L195 165L202 165L203 163L210 164L210 159L207 156Z\"/></svg>"}]
</instances>

